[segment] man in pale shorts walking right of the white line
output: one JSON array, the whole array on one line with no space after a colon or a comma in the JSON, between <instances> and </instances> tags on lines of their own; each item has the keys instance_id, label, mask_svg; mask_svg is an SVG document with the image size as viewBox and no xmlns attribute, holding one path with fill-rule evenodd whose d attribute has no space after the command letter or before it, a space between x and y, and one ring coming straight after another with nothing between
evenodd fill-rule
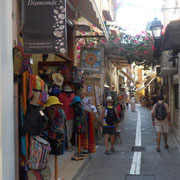
<instances>
[{"instance_id":1,"label":"man in pale shorts walking right of the white line","mask_svg":"<svg viewBox=\"0 0 180 180\"><path fill-rule=\"evenodd\" d=\"M163 102L163 95L158 96L158 102L154 104L152 109L152 123L157 132L157 152L160 152L161 133L164 137L164 148L168 149L167 133L169 132L169 126L171 126L171 115L169 106Z\"/></svg>"}]
</instances>

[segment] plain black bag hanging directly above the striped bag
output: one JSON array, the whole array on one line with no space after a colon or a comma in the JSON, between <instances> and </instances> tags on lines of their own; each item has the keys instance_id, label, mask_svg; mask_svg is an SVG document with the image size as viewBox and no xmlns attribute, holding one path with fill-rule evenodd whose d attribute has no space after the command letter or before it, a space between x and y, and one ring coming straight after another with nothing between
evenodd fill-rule
<instances>
[{"instance_id":1,"label":"plain black bag hanging directly above the striped bag","mask_svg":"<svg viewBox=\"0 0 180 180\"><path fill-rule=\"evenodd\" d=\"M24 117L23 129L30 135L40 135L46 127L48 118L40 112L39 106L29 104Z\"/></svg>"}]
</instances>

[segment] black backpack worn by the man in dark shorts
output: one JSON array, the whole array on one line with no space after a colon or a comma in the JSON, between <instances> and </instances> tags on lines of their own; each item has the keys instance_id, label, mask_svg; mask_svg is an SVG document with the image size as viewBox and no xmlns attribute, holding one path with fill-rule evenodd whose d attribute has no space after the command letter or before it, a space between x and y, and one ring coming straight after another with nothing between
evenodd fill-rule
<instances>
[{"instance_id":1,"label":"black backpack worn by the man in dark shorts","mask_svg":"<svg viewBox=\"0 0 180 180\"><path fill-rule=\"evenodd\" d=\"M117 122L117 115L115 108L108 108L107 107L107 116L106 116L106 123L107 125L113 126Z\"/></svg>"}]
</instances>

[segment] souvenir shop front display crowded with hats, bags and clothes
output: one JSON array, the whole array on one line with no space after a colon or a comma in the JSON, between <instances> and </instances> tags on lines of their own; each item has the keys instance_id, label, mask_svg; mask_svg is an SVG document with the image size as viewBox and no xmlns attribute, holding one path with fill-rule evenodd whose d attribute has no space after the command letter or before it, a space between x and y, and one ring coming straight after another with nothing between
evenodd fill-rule
<instances>
[{"instance_id":1,"label":"souvenir shop front display crowded with hats, bags and clothes","mask_svg":"<svg viewBox=\"0 0 180 180\"><path fill-rule=\"evenodd\" d=\"M82 73L71 62L39 61L34 74L31 61L23 47L14 48L20 178L57 179L57 161L65 152L76 149L73 160L95 152L94 116L82 101ZM53 168L49 156L55 160Z\"/></svg>"}]
</instances>

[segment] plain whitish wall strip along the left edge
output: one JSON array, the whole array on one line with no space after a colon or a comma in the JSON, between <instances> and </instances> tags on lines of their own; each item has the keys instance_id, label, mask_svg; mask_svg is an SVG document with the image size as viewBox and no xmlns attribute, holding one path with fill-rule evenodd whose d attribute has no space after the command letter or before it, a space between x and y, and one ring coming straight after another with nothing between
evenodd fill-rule
<instances>
[{"instance_id":1,"label":"plain whitish wall strip along the left edge","mask_svg":"<svg viewBox=\"0 0 180 180\"><path fill-rule=\"evenodd\" d=\"M0 179L15 179L12 0L0 1Z\"/></svg>"}]
</instances>

